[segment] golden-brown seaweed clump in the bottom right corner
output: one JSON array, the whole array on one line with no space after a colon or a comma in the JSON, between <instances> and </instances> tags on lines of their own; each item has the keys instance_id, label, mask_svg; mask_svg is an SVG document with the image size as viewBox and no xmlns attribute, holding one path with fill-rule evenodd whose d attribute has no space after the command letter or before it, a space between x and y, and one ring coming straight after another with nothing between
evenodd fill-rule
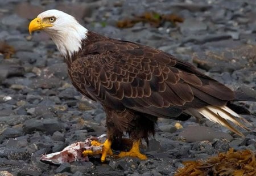
<instances>
[{"instance_id":1,"label":"golden-brown seaweed clump in the bottom right corner","mask_svg":"<svg viewBox=\"0 0 256 176\"><path fill-rule=\"evenodd\" d=\"M226 153L210 157L207 161L185 161L184 168L179 168L175 176L181 175L256 175L255 153L248 149L234 152L230 148Z\"/></svg>"}]
</instances>

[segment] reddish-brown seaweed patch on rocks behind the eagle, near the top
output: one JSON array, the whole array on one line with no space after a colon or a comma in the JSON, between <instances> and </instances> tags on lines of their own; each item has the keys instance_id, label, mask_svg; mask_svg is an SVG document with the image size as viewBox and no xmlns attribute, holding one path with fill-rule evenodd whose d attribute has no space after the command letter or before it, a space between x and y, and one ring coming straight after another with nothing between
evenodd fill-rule
<instances>
[{"instance_id":1,"label":"reddish-brown seaweed patch on rocks behind the eagle, near the top","mask_svg":"<svg viewBox=\"0 0 256 176\"><path fill-rule=\"evenodd\" d=\"M130 28L139 22L150 23L153 27L160 27L164 22L171 22L176 25L177 22L184 22L184 19L175 14L158 14L157 12L150 11L144 12L144 14L139 16L134 16L132 19L119 20L117 22L117 27Z\"/></svg>"}]
</instances>

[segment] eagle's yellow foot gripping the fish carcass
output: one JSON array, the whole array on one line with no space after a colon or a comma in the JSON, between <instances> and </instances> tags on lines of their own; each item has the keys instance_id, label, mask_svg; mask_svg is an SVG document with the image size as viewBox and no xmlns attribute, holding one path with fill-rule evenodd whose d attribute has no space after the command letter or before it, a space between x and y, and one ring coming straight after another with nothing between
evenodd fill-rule
<instances>
[{"instance_id":1,"label":"eagle's yellow foot gripping the fish carcass","mask_svg":"<svg viewBox=\"0 0 256 176\"><path fill-rule=\"evenodd\" d=\"M100 146L103 145L102 147L102 151L98 151L98 152L93 152L93 151L84 151L82 152L82 154L84 154L85 156L87 155L96 155L96 154L101 154L101 162L104 162L106 160L106 155L113 155L112 149L111 149L111 144L112 141L106 139L105 142L102 144L96 140L93 140L91 142L92 145L94 146Z\"/></svg>"}]
</instances>

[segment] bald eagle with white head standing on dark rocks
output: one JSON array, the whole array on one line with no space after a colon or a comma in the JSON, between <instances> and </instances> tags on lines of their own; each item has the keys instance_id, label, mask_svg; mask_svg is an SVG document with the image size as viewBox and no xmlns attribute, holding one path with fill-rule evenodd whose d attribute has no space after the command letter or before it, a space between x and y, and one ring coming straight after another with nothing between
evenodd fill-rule
<instances>
[{"instance_id":1,"label":"bald eagle with white head standing on dark rocks","mask_svg":"<svg viewBox=\"0 0 256 176\"><path fill-rule=\"evenodd\" d=\"M36 30L47 32L55 42L67 60L74 87L104 107L107 139L102 144L102 162L113 154L112 142L124 133L133 145L119 156L146 159L139 145L141 139L154 135L158 117L207 118L240 136L228 121L249 130L247 121L227 106L235 98L231 89L171 54L94 33L59 10L44 11L32 20L29 32Z\"/></svg>"}]
</instances>

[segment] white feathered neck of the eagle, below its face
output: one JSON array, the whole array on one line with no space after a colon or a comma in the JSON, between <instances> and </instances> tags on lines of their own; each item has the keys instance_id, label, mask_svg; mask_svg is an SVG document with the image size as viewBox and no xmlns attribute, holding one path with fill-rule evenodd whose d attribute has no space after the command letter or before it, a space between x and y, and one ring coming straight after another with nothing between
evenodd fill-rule
<instances>
[{"instance_id":1,"label":"white feathered neck of the eagle, below its face","mask_svg":"<svg viewBox=\"0 0 256 176\"><path fill-rule=\"evenodd\" d=\"M49 36L55 42L61 55L68 58L81 49L82 40L87 37L87 33L88 29L76 23L67 28L62 28L60 31L49 33Z\"/></svg>"}]
</instances>

